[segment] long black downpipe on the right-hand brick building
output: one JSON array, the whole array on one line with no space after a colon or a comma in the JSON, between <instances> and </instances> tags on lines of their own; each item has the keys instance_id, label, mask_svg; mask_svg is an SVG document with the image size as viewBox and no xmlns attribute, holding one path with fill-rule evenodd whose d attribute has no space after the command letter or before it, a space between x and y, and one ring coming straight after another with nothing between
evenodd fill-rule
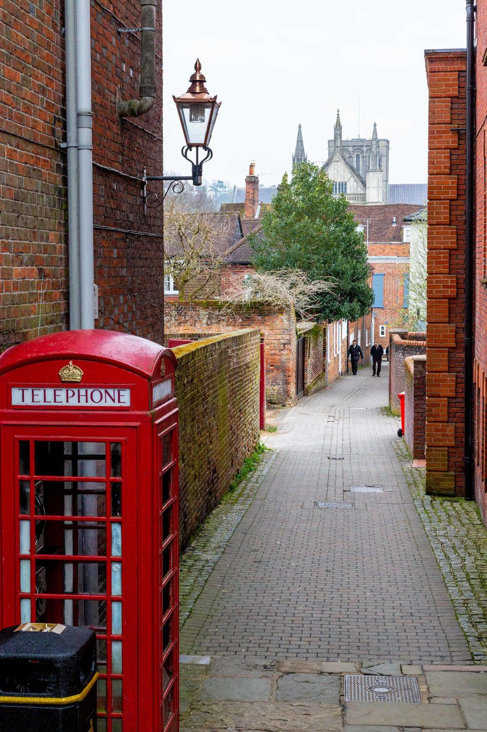
<instances>
[{"instance_id":1,"label":"long black downpipe on the right-hand brick building","mask_svg":"<svg viewBox=\"0 0 487 732\"><path fill-rule=\"evenodd\" d=\"M474 132L475 132L475 6L467 0L467 141L465 186L465 500L475 499L473 487L473 255L474 255Z\"/></svg>"}]
</instances>

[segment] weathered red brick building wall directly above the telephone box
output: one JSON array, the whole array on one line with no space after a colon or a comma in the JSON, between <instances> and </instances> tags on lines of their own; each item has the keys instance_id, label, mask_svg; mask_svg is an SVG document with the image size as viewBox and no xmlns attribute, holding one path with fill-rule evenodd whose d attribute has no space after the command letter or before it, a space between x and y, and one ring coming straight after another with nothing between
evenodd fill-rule
<instances>
[{"instance_id":1,"label":"weathered red brick building wall directly above the telephone box","mask_svg":"<svg viewBox=\"0 0 487 732\"><path fill-rule=\"evenodd\" d=\"M162 27L156 102L118 122L117 91L138 97L140 3L91 2L94 272L97 327L162 340L162 209L144 212L140 178L162 175ZM69 321L64 4L0 7L0 348Z\"/></svg>"}]
</instances>

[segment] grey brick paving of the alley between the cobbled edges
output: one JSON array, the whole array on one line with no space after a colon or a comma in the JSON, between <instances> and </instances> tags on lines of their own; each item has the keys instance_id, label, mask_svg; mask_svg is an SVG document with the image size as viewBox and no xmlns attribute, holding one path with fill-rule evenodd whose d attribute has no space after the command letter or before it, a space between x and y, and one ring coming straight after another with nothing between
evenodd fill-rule
<instances>
[{"instance_id":1,"label":"grey brick paving of the alley between the cobbled edges","mask_svg":"<svg viewBox=\"0 0 487 732\"><path fill-rule=\"evenodd\" d=\"M472 662L387 403L385 364L279 413L265 434L279 452L184 623L182 654ZM366 484L384 492L344 490ZM314 507L324 501L354 507Z\"/></svg>"}]
</instances>

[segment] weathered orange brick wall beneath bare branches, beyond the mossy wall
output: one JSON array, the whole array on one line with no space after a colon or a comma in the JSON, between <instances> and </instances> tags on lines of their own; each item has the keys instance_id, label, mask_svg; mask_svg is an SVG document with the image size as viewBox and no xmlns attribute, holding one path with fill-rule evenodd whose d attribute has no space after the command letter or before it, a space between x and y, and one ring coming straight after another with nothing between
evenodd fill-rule
<instances>
[{"instance_id":1,"label":"weathered orange brick wall beneath bare branches, beyond the mossy wall","mask_svg":"<svg viewBox=\"0 0 487 732\"><path fill-rule=\"evenodd\" d=\"M296 403L296 318L290 308L270 306L229 310L221 300L166 302L165 329L172 334L225 333L259 328L265 338L265 398Z\"/></svg>"}]
</instances>

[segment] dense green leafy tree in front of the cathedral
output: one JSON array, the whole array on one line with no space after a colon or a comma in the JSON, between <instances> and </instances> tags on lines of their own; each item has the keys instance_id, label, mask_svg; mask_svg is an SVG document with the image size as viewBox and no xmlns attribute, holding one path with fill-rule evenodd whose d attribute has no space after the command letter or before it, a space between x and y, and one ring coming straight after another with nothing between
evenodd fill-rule
<instances>
[{"instance_id":1,"label":"dense green leafy tree in front of the cathedral","mask_svg":"<svg viewBox=\"0 0 487 732\"><path fill-rule=\"evenodd\" d=\"M301 269L310 280L334 283L317 293L317 318L357 320L374 302L367 248L346 198L333 198L332 190L333 182L312 163L301 165L291 181L286 173L263 216L263 234L248 243L258 270Z\"/></svg>"}]
</instances>

